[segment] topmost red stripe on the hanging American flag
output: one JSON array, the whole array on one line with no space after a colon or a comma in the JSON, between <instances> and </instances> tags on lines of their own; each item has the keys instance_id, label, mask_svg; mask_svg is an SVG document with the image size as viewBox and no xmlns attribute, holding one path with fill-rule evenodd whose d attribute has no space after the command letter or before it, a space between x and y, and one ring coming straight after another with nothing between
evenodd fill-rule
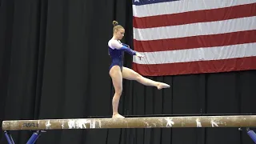
<instances>
[{"instance_id":1,"label":"topmost red stripe on the hanging American flag","mask_svg":"<svg viewBox=\"0 0 256 144\"><path fill-rule=\"evenodd\" d=\"M177 26L195 22L213 22L232 18L256 15L256 3L230 6L212 10L197 10L179 14L162 14L157 16L134 17L134 28L152 28L159 26Z\"/></svg>"}]
</instances>

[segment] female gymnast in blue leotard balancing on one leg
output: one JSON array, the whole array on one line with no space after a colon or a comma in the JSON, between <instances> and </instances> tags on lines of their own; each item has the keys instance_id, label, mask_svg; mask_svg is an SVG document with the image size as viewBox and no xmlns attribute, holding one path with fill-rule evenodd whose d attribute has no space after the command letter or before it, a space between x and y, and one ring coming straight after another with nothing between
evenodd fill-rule
<instances>
[{"instance_id":1,"label":"female gymnast in blue leotard balancing on one leg","mask_svg":"<svg viewBox=\"0 0 256 144\"><path fill-rule=\"evenodd\" d=\"M142 77L142 75L138 74L134 70L122 66L124 52L131 55L135 55L138 58L143 58L144 56L142 54L139 54L137 51L131 50L130 46L120 42L120 40L125 34L125 29L121 25L118 25L117 21L113 21L113 25L113 38L111 38L108 42L109 54L111 58L109 74L112 79L115 91L114 97L112 99L112 118L124 118L121 114L118 114L118 104L122 94L122 78L125 78L127 80L135 80L137 82L142 83L145 86L155 86L158 88L158 90L161 90L162 88L169 88L170 86L166 83L155 82L148 78L144 78Z\"/></svg>"}]
</instances>

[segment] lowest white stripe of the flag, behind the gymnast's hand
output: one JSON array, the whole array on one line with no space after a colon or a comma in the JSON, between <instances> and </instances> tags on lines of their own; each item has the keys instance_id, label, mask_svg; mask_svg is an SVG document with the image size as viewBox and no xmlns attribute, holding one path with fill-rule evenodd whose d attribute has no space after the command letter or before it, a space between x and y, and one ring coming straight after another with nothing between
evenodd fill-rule
<instances>
[{"instance_id":1,"label":"lowest white stripe of the flag, behind the gymnast's hand","mask_svg":"<svg viewBox=\"0 0 256 144\"><path fill-rule=\"evenodd\" d=\"M195 62L221 60L227 58L243 58L256 56L256 42L233 46L218 46L209 48L170 50L160 52L140 53L145 55L141 60L134 56L138 64L163 64L175 62Z\"/></svg>"}]
</instances>

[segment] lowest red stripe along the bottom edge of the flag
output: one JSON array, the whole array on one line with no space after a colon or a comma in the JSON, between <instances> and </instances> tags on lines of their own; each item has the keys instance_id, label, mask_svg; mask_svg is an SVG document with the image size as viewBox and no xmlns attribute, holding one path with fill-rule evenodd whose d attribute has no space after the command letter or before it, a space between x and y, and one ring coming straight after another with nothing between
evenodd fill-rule
<instances>
[{"instance_id":1,"label":"lowest red stripe along the bottom edge of the flag","mask_svg":"<svg viewBox=\"0 0 256 144\"><path fill-rule=\"evenodd\" d=\"M144 76L219 73L238 70L256 70L256 57L232 58L201 62L180 62L159 65L133 63L133 70Z\"/></svg>"}]
</instances>

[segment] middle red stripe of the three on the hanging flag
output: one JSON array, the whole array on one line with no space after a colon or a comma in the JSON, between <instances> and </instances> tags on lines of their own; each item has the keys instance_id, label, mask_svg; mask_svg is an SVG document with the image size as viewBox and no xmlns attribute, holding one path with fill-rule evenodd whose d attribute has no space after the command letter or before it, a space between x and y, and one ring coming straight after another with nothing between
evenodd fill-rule
<instances>
[{"instance_id":1,"label":"middle red stripe of the three on the hanging flag","mask_svg":"<svg viewBox=\"0 0 256 144\"><path fill-rule=\"evenodd\" d=\"M229 46L256 42L255 36L256 30L247 30L227 34L212 34L152 41L137 41L134 39L134 50L138 52L154 52L193 49L198 47Z\"/></svg>"}]
</instances>

